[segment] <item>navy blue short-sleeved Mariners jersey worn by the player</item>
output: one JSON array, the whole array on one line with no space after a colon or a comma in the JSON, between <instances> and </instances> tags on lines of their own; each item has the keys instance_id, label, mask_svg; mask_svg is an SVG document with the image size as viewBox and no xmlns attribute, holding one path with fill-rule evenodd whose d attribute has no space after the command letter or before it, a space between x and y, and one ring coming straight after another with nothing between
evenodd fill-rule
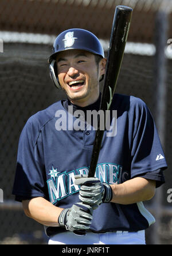
<instances>
[{"instance_id":1,"label":"navy blue short-sleeved Mariners jersey worn by the player","mask_svg":"<svg viewBox=\"0 0 172 256\"><path fill-rule=\"evenodd\" d=\"M100 103L100 99L97 102ZM83 112L99 109L98 105L83 108ZM16 200L44 197L60 208L70 208L80 201L74 176L88 174L96 131L87 130L88 126L71 129L69 122L78 121L68 112L69 106L69 101L54 103L31 116L22 130L13 187ZM104 132L95 176L108 184L143 176L157 180L160 186L164 182L162 170L167 164L146 104L136 97L116 94L112 110L117 110L116 133L110 137L109 131ZM68 129L60 130L60 125ZM108 203L94 210L91 229L95 232L138 231L154 221L142 202ZM47 230L50 235L60 232L61 228Z\"/></svg>"}]
</instances>

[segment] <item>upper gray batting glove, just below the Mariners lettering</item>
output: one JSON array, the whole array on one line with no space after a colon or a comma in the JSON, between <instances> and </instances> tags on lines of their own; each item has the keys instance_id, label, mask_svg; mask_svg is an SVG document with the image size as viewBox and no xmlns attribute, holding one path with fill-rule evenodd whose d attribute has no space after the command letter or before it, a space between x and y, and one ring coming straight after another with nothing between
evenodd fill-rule
<instances>
[{"instance_id":1,"label":"upper gray batting glove, just below the Mariners lettering","mask_svg":"<svg viewBox=\"0 0 172 256\"><path fill-rule=\"evenodd\" d=\"M75 185L81 185L79 199L84 204L89 204L95 210L101 203L110 202L112 189L107 183L102 183L98 178L88 178L87 175L75 175Z\"/></svg>"}]
</instances>

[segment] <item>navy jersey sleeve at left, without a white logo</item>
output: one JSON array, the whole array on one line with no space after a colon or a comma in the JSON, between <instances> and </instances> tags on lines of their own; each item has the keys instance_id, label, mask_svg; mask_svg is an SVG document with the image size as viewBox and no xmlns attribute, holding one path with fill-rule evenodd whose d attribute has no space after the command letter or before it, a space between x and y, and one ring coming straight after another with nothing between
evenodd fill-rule
<instances>
[{"instance_id":1,"label":"navy jersey sleeve at left, without a white logo","mask_svg":"<svg viewBox=\"0 0 172 256\"><path fill-rule=\"evenodd\" d=\"M41 133L28 121L22 130L18 144L17 168L13 194L15 200L34 197L46 198L46 178Z\"/></svg>"}]
</instances>

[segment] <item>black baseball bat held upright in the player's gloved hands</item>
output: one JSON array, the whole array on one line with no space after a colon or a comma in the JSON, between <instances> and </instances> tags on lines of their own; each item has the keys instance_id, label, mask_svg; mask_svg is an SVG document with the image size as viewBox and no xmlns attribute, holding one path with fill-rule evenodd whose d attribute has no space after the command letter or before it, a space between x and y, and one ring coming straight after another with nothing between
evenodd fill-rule
<instances>
[{"instance_id":1,"label":"black baseball bat held upright in the player's gloved hands","mask_svg":"<svg viewBox=\"0 0 172 256\"><path fill-rule=\"evenodd\" d=\"M120 67L123 61L124 50L126 47L128 32L132 18L132 8L128 6L116 6L114 20L112 23L110 47L107 55L107 63L105 67L105 76L103 84L103 92L101 95L100 110L105 113L110 110L112 99L114 96L116 83L119 77ZM105 123L104 123L105 127ZM88 177L94 177L97 161L101 148L101 141L103 140L104 130L100 129L100 116L97 120L97 130L95 141L93 144L91 164L89 167ZM85 235L85 230L73 231L76 235Z\"/></svg>"}]
</instances>

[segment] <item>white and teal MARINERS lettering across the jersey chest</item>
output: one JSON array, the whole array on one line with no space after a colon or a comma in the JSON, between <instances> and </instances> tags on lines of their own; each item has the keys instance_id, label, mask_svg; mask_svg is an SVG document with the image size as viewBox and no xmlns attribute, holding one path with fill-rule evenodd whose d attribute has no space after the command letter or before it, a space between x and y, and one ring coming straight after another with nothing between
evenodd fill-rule
<instances>
[{"instance_id":1,"label":"white and teal MARINERS lettering across the jersey chest","mask_svg":"<svg viewBox=\"0 0 172 256\"><path fill-rule=\"evenodd\" d=\"M48 173L50 179L47 180L50 202L55 204L57 201L77 193L80 187L75 185L75 175L88 174L88 171L88 167L83 167L69 172L60 172L57 171L57 168L52 167ZM95 176L101 182L118 184L121 172L122 166L118 164L101 163L97 164Z\"/></svg>"}]
</instances>

